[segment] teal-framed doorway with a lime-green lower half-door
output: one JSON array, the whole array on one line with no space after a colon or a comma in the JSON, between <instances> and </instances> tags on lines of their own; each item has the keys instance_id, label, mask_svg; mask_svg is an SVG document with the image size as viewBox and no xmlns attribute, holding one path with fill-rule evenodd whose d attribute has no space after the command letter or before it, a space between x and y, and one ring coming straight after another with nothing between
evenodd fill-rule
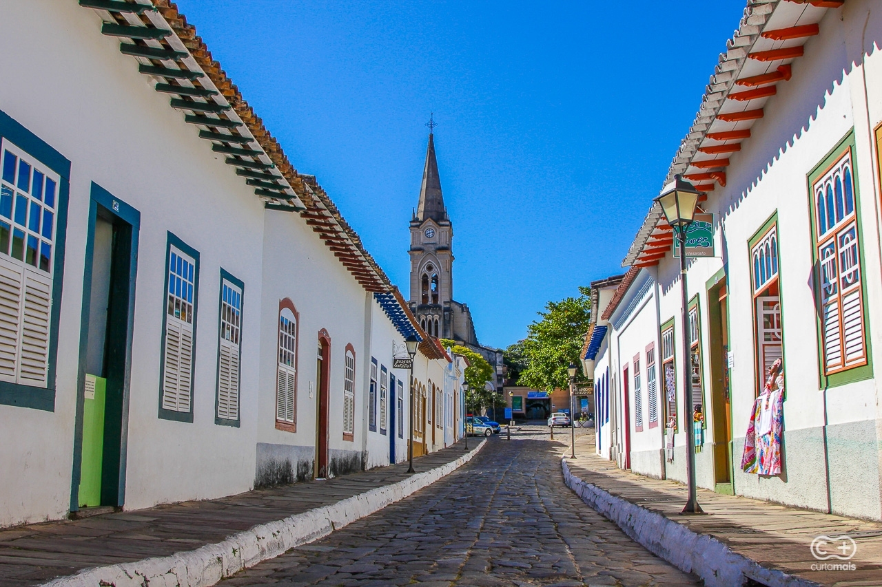
<instances>
[{"instance_id":1,"label":"teal-framed doorway with a lime-green lower half-door","mask_svg":"<svg viewBox=\"0 0 882 587\"><path fill-rule=\"evenodd\" d=\"M71 512L125 499L140 213L93 184L86 240Z\"/></svg>"}]
</instances>

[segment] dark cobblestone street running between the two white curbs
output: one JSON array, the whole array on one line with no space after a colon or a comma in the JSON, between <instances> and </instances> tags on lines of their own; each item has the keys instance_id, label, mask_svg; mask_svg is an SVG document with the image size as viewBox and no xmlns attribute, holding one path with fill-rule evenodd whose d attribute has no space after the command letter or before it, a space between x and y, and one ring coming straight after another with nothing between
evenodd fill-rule
<instances>
[{"instance_id":1,"label":"dark cobblestone street running between the two white curbs","mask_svg":"<svg viewBox=\"0 0 882 587\"><path fill-rule=\"evenodd\" d=\"M690 585L567 487L570 432L524 427L402 502L220 583ZM579 431L581 432L581 431Z\"/></svg>"}]
</instances>

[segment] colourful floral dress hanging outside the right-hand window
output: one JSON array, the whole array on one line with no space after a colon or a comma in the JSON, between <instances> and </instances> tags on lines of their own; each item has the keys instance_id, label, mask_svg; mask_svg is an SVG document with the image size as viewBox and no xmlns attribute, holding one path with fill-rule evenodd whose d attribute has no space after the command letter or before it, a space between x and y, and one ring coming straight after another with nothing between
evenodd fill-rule
<instances>
[{"instance_id":1,"label":"colourful floral dress hanging outside the right-hand window","mask_svg":"<svg viewBox=\"0 0 882 587\"><path fill-rule=\"evenodd\" d=\"M741 468L758 475L781 473L781 433L784 420L784 377L770 380L753 402Z\"/></svg>"}]
</instances>

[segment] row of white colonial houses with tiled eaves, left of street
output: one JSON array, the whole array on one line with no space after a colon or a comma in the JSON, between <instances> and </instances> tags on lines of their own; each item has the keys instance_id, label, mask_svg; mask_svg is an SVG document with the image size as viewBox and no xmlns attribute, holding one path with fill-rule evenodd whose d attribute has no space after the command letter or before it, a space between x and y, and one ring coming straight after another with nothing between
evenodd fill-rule
<instances>
[{"instance_id":1,"label":"row of white colonial houses with tiled eaves, left of street","mask_svg":"<svg viewBox=\"0 0 882 587\"><path fill-rule=\"evenodd\" d=\"M400 462L411 336L421 450L460 437L462 369L174 4L0 44L0 525Z\"/></svg>"}]
</instances>

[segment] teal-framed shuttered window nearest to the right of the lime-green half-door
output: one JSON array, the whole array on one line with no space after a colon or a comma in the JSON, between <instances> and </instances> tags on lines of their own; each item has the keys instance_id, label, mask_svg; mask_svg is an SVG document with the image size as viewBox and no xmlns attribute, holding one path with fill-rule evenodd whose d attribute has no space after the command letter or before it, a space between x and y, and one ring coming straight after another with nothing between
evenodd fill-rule
<instances>
[{"instance_id":1,"label":"teal-framed shuttered window nearest to the right of the lime-green half-door","mask_svg":"<svg viewBox=\"0 0 882 587\"><path fill-rule=\"evenodd\" d=\"M162 420L193 421L198 297L199 251L169 232L162 290L159 393Z\"/></svg>"}]
</instances>

